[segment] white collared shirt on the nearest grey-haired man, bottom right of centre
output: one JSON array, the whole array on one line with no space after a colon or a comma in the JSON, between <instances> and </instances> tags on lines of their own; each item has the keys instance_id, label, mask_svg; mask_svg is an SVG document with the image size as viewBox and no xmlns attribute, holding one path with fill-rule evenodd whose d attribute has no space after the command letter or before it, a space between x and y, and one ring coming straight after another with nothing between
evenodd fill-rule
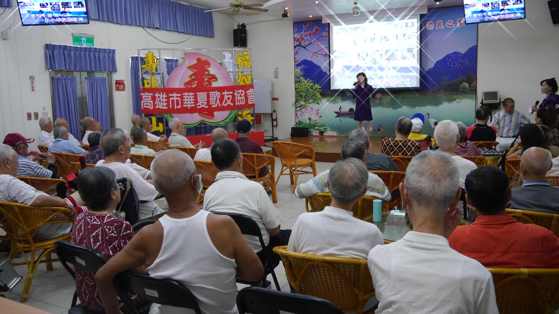
<instances>
[{"instance_id":1,"label":"white collared shirt on the nearest grey-haired man, bottom right of centre","mask_svg":"<svg viewBox=\"0 0 559 314\"><path fill-rule=\"evenodd\" d=\"M380 301L376 314L499 313L491 273L442 236L409 231L373 248L368 265Z\"/></svg>"}]
</instances>

